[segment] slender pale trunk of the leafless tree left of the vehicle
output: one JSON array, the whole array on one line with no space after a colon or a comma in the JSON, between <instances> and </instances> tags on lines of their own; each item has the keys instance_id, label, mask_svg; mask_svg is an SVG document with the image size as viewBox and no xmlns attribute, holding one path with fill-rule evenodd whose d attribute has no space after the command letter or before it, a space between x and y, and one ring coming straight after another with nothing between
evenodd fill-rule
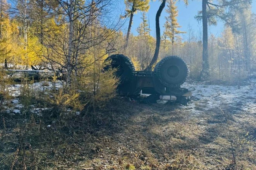
<instances>
[{"instance_id":1,"label":"slender pale trunk of the leafless tree left of the vehicle","mask_svg":"<svg viewBox=\"0 0 256 170\"><path fill-rule=\"evenodd\" d=\"M71 71L72 71L72 65L71 65L71 56L72 56L72 40L73 40L73 0L69 0L70 2L70 10L69 10L69 50L68 50L68 56L67 56L67 85L71 83Z\"/></svg>"}]
</instances>

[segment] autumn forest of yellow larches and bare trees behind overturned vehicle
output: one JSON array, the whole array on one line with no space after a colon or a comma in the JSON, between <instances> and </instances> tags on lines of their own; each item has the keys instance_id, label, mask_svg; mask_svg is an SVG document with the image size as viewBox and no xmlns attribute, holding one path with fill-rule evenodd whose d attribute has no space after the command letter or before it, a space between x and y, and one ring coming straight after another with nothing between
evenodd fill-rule
<instances>
[{"instance_id":1,"label":"autumn forest of yellow larches and bare trees behind overturned vehicle","mask_svg":"<svg viewBox=\"0 0 256 170\"><path fill-rule=\"evenodd\" d=\"M202 21L199 33L189 25L186 32L179 31L177 17L183 11L177 10L176 2L161 1L156 23L166 10L164 33L160 35L159 27L152 37L149 0L125 0L126 12L115 15L118 2L111 0L0 0L1 63L5 68L63 71L67 83L75 85L84 84L90 75L96 87L103 61L113 53L130 57L137 70L151 70L161 58L178 55L189 65L190 77L201 80L232 81L255 68L251 1L202 0L195 16ZM130 32L134 15L142 19L137 36ZM122 32L125 18L129 25ZM217 20L225 24L219 37L207 29Z\"/></svg>"}]
</instances>

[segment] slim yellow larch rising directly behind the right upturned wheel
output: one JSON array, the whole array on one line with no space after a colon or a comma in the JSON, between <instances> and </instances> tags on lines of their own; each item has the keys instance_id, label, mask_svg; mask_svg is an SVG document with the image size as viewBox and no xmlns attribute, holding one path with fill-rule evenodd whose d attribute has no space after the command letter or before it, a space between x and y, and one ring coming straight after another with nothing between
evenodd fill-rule
<instances>
[{"instance_id":1,"label":"slim yellow larch rising directly behind the right upturned wheel","mask_svg":"<svg viewBox=\"0 0 256 170\"><path fill-rule=\"evenodd\" d=\"M165 27L165 31L164 31L164 35L168 38L171 39L172 42L172 55L175 54L175 38L179 35L179 34L183 34L186 32L183 31L179 31L178 28L180 28L181 26L179 25L178 21L177 21L177 17L178 17L178 10L177 10L177 6L176 4L176 0L167 0L167 9L166 12L169 14L167 17L165 17L166 22L164 24Z\"/></svg>"}]
</instances>

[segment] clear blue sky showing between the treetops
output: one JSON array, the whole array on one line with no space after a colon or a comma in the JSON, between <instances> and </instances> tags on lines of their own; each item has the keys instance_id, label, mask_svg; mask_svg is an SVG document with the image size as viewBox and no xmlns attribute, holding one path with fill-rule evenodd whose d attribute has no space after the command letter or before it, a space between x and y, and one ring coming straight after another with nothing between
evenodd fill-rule
<instances>
[{"instance_id":1,"label":"clear blue sky showing between the treetops","mask_svg":"<svg viewBox=\"0 0 256 170\"><path fill-rule=\"evenodd\" d=\"M157 10L160 6L160 1L156 0L155 2L150 2L150 10L147 13L147 17L150 21L150 29L151 29L151 35L155 36L155 17L156 17L156 13ZM183 1L178 1L176 3L176 5L178 6L178 10L179 10L179 16L178 16L178 23L180 24L181 28L179 29L180 31L187 31L188 28L188 24L190 24L190 26L192 27L192 29L194 30L194 34L199 34L199 32L202 30L202 25L201 23L198 23L194 17L197 15L197 12L199 10L201 10L202 8L202 1L201 0L194 0L194 1L189 1L189 5L185 6ZM165 6L166 9L167 6ZM122 11L125 10L125 4L124 2L121 0L121 4L120 4L120 8ZM252 11L254 13L256 13L256 0L253 0L252 3ZM161 29L161 33L163 33L163 25L165 23L165 16L167 16L167 13L165 12L165 10L163 11L163 13L161 14L160 17L160 29ZM127 27L128 27L128 20L126 22L125 29L123 29L124 33L126 34L127 31ZM141 23L141 12L138 12L137 14L135 14L134 19L133 19L133 25L131 28L131 32L134 35L137 35L137 31L136 28L139 26L139 24ZM210 26L208 28L208 32L211 34L214 34L216 36L219 36L221 34L221 32L223 31L223 23L222 22L218 22L217 26Z\"/></svg>"}]
</instances>

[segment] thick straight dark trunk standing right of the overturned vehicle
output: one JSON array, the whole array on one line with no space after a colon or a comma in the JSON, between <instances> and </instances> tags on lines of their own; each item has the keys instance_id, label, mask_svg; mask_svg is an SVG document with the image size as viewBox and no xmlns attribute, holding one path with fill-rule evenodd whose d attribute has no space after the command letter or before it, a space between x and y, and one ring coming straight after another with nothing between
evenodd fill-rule
<instances>
[{"instance_id":1,"label":"thick straight dark trunk standing right of the overturned vehicle","mask_svg":"<svg viewBox=\"0 0 256 170\"><path fill-rule=\"evenodd\" d=\"M207 25L207 0L202 0L202 20L203 20L203 58L201 79L209 78L209 57L208 57L208 25Z\"/></svg>"}]
</instances>

